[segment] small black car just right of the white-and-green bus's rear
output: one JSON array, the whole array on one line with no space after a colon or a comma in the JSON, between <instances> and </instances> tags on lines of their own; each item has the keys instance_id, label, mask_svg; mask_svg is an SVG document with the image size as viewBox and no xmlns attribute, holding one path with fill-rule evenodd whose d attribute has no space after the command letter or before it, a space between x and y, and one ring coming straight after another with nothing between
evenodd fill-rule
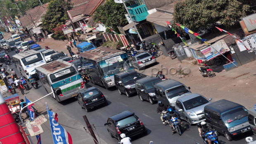
<instances>
[{"instance_id":1,"label":"small black car just right of the white-and-green bus's rear","mask_svg":"<svg viewBox=\"0 0 256 144\"><path fill-rule=\"evenodd\" d=\"M100 105L108 105L107 99L96 87L90 87L78 93L78 104L89 112L92 108Z\"/></svg>"}]
</instances>

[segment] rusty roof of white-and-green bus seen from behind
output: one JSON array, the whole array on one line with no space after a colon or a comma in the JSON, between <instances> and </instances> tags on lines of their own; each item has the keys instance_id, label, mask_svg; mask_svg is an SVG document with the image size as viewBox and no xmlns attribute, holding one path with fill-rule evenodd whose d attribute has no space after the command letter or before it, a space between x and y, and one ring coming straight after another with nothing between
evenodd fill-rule
<instances>
[{"instance_id":1,"label":"rusty roof of white-and-green bus seen from behind","mask_svg":"<svg viewBox=\"0 0 256 144\"><path fill-rule=\"evenodd\" d=\"M48 64L44 64L42 66L38 66L36 68L37 71L40 71L45 74L54 73L55 71L59 71L61 69L64 69L68 66L72 66L72 63L69 63L67 61L63 61L61 59L57 59L56 61L52 61Z\"/></svg>"}]
</instances>

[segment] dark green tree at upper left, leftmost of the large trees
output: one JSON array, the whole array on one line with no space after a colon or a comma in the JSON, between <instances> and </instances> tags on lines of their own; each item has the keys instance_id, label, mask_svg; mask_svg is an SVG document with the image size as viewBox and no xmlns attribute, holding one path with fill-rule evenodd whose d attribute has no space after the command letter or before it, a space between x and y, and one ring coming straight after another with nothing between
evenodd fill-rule
<instances>
[{"instance_id":1,"label":"dark green tree at upper left, leftmost of the large trees","mask_svg":"<svg viewBox=\"0 0 256 144\"><path fill-rule=\"evenodd\" d=\"M62 0L66 10L72 8L71 0ZM62 4L59 0L52 0L47 7L46 14L42 17L43 28L47 31L53 32L53 28L57 25L65 24L68 16L62 7Z\"/></svg>"}]
</instances>

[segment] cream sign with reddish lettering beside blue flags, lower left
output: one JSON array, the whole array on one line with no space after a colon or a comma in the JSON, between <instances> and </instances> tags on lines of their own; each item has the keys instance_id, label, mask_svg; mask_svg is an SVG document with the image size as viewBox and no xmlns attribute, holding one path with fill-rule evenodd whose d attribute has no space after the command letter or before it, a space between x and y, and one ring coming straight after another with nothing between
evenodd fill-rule
<instances>
[{"instance_id":1,"label":"cream sign with reddish lettering beside blue flags, lower left","mask_svg":"<svg viewBox=\"0 0 256 144\"><path fill-rule=\"evenodd\" d=\"M35 118L33 121L26 120L26 127L28 129L29 134L31 137L39 135L43 133L42 124L45 123L47 119L44 115L40 115L37 118Z\"/></svg>"}]
</instances>

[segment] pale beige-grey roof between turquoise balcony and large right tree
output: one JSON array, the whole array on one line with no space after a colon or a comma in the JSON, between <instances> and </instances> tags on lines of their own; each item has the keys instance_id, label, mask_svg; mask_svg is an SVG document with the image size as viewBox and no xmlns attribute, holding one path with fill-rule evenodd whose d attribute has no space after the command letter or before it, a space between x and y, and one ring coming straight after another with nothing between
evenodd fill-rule
<instances>
[{"instance_id":1,"label":"pale beige-grey roof between turquoise balcony and large right tree","mask_svg":"<svg viewBox=\"0 0 256 144\"><path fill-rule=\"evenodd\" d=\"M173 15L157 11L152 14L149 14L147 16L147 21L166 27L167 26L166 21L169 21L169 22L173 21Z\"/></svg>"}]
</instances>

